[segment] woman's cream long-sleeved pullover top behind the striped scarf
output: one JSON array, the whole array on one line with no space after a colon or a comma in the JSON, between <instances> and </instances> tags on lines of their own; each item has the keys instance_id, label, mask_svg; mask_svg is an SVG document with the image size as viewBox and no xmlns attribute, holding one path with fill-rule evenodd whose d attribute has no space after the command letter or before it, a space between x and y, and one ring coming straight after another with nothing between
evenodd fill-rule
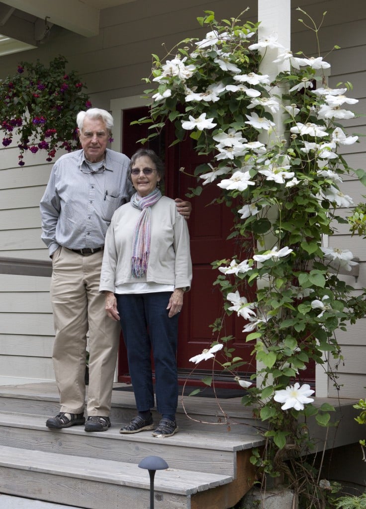
<instances>
[{"instance_id":1,"label":"woman's cream long-sleeved pullover top behind the striped scarf","mask_svg":"<svg viewBox=\"0 0 366 509\"><path fill-rule=\"evenodd\" d=\"M141 211L127 203L116 210L105 236L99 291L123 292L131 284L148 283L188 288L192 280L187 222L174 200L162 196L151 207L151 242L147 273L132 276L131 255L133 233ZM130 287L131 288L131 287ZM156 288L156 287L155 287ZM165 291L151 290L151 291ZM125 292L123 292L125 293ZM130 293L135 293L131 291Z\"/></svg>"}]
</instances>

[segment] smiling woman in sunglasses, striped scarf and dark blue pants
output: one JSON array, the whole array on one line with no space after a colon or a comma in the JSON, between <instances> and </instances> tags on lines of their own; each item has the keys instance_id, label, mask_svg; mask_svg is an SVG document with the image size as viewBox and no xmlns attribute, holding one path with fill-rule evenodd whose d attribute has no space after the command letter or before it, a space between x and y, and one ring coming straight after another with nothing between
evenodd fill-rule
<instances>
[{"instance_id":1,"label":"smiling woman in sunglasses, striped scarf and dark blue pants","mask_svg":"<svg viewBox=\"0 0 366 509\"><path fill-rule=\"evenodd\" d=\"M136 192L112 217L99 290L105 293L107 315L121 321L138 411L120 432L154 430L152 350L161 414L153 436L169 437L178 431L178 317L192 265L187 223L159 190L163 174L152 150L139 149L132 156L130 179Z\"/></svg>"}]
</instances>

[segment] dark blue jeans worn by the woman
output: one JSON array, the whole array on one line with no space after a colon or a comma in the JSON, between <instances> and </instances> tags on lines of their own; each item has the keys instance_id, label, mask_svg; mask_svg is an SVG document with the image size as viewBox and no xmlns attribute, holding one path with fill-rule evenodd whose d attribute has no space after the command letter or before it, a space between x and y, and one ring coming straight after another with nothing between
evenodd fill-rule
<instances>
[{"instance_id":1,"label":"dark blue jeans worn by the woman","mask_svg":"<svg viewBox=\"0 0 366 509\"><path fill-rule=\"evenodd\" d=\"M173 415L178 404L178 317L168 317L172 292L116 295L136 407L153 408L151 350L155 369L156 408Z\"/></svg>"}]
</instances>

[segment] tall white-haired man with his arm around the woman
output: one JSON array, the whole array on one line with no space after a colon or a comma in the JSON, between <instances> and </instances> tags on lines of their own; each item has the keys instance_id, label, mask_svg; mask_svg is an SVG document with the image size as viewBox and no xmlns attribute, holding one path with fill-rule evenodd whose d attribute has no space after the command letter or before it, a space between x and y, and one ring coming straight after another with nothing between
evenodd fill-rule
<instances>
[{"instance_id":1,"label":"tall white-haired man with his arm around the woman","mask_svg":"<svg viewBox=\"0 0 366 509\"><path fill-rule=\"evenodd\" d=\"M110 427L112 382L120 325L104 310L99 293L104 238L114 211L133 194L129 159L107 149L111 115L99 108L77 115L82 149L55 162L40 203L42 240L52 259L51 303L55 340L53 367L61 411L48 428L84 425L85 431ZM190 204L177 199L182 215ZM85 367L89 330L89 389L85 407Z\"/></svg>"}]
</instances>

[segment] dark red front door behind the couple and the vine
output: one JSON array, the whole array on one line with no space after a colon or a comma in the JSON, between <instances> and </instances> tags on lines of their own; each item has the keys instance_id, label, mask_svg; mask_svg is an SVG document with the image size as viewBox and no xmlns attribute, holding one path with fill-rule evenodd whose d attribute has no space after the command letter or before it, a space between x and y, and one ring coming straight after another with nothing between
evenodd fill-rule
<instances>
[{"instance_id":1,"label":"dark red front door behind the couple and the vine","mask_svg":"<svg viewBox=\"0 0 366 509\"><path fill-rule=\"evenodd\" d=\"M146 136L147 129L144 126L130 126L131 120L147 115L147 108L136 108L124 112L124 152L129 157L137 150L137 139ZM188 137L186 142L168 148L169 138L172 136L172 127L167 126L164 137L156 138L150 144L165 161L165 194L172 198L185 199L189 188L198 185L193 176L194 168L205 162L202 156L198 156L191 147L192 140ZM174 139L174 138L173 138ZM179 171L184 168L183 171ZM233 240L227 240L233 224L233 216L230 209L224 205L212 204L212 200L218 196L219 188L215 184L205 186L199 197L191 198L192 213L188 222L190 233L191 257L193 264L193 280L191 291L185 294L184 305L179 319L178 341L178 371L181 378L189 376L195 364L189 359L209 348L211 343L219 336L212 333L210 325L215 319L222 317L222 295L213 281L218 275L213 270L211 263L224 258L230 259L235 252ZM248 297L249 300L249 297ZM221 336L233 335L235 340L230 347L235 348L235 355L245 361L240 369L242 374L255 372L255 360L251 356L252 345L245 343L245 335L242 333L242 319L235 315L226 317ZM123 343L123 342L121 342ZM121 344L119 362L119 381L126 381L128 365L126 356L121 355L124 345ZM224 361L221 358L221 361ZM201 362L194 371L194 375L212 372L212 361ZM219 375L222 369L217 365L215 372L221 380L232 380L233 376L222 377Z\"/></svg>"}]
</instances>

